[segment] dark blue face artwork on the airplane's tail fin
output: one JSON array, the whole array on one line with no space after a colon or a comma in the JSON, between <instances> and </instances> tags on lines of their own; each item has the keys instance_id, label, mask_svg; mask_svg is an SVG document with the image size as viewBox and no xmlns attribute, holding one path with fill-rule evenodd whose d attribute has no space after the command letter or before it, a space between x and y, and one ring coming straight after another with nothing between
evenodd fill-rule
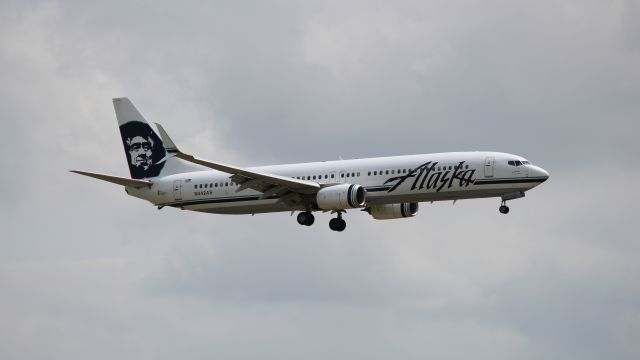
<instances>
[{"instance_id":1,"label":"dark blue face artwork on the airplane's tail fin","mask_svg":"<svg viewBox=\"0 0 640 360\"><path fill-rule=\"evenodd\" d=\"M162 141L149 124L130 121L120 126L122 144L127 154L131 177L143 179L158 176L166 155Z\"/></svg>"}]
</instances>

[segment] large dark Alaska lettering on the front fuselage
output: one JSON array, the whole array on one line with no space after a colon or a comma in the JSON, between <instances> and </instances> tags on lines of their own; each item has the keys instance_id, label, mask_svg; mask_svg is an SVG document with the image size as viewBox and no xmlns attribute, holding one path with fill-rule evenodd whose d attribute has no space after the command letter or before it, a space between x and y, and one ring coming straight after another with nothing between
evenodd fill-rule
<instances>
[{"instance_id":1,"label":"large dark Alaska lettering on the front fuselage","mask_svg":"<svg viewBox=\"0 0 640 360\"><path fill-rule=\"evenodd\" d=\"M476 171L475 169L466 169L464 163L464 161L461 161L458 165L451 168L447 166L436 167L436 165L438 165L437 161L426 162L415 169L409 170L407 175L392 177L385 181L385 185L395 182L387 192L393 192L410 178L415 178L411 185L411 191L426 188L427 190L434 189L439 192L444 188L449 189L454 185L468 187L475 183L474 174ZM451 170L448 170L448 168L451 168ZM456 180L457 182L455 182Z\"/></svg>"}]
</instances>

